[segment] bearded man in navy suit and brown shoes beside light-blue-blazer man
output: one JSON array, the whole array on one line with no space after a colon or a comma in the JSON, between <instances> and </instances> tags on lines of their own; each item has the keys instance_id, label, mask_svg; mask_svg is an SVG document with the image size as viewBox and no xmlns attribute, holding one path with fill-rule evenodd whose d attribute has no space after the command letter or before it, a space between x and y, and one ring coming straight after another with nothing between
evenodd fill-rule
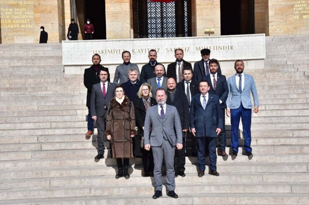
<instances>
[{"instance_id":1,"label":"bearded man in navy suit and brown shoes beside light-blue-blazer man","mask_svg":"<svg viewBox=\"0 0 309 205\"><path fill-rule=\"evenodd\" d=\"M216 59L211 59L209 61L209 69L210 73L205 78L210 84L209 92L215 94L219 97L219 102L221 106L221 116L222 116L222 125L223 128L221 133L218 136L219 139L219 150L220 156L226 157L228 156L225 152L226 147L226 132L225 132L225 108L226 108L226 99L229 93L229 88L227 87L226 77L224 75L220 75L218 70L219 62Z\"/></svg>"}]
</instances>

